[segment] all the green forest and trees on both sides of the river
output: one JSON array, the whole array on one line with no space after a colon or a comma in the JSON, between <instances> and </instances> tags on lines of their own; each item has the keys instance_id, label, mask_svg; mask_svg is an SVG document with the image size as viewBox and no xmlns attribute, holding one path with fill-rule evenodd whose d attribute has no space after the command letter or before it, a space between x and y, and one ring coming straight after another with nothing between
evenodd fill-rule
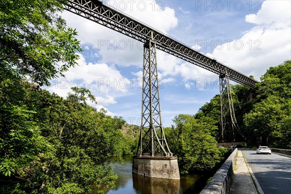
<instances>
[{"instance_id":1,"label":"all the green forest and trees on both sides of the river","mask_svg":"<svg viewBox=\"0 0 291 194\"><path fill-rule=\"evenodd\" d=\"M62 0L1 1L0 193L90 193L113 187L108 159L135 153L139 126L106 115L86 88L66 98L40 89L78 65L77 32L56 13ZM274 64L276 65L276 64ZM291 61L271 67L255 88L232 86L239 126L249 146L291 149ZM165 128L181 173L205 172L228 150L217 147L220 97Z\"/></svg>"}]
</instances>

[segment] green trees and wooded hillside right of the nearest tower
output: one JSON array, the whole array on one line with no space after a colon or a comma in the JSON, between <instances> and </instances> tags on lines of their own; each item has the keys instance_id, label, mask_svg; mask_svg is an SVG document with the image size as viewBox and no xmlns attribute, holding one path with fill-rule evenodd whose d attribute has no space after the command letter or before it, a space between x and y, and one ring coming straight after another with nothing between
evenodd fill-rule
<instances>
[{"instance_id":1,"label":"green trees and wooded hillside right of the nearest tower","mask_svg":"<svg viewBox=\"0 0 291 194\"><path fill-rule=\"evenodd\" d=\"M247 145L291 149L291 61L269 68L255 88L238 84L231 89ZM179 114L173 126L165 128L182 173L206 172L225 159L226 149L216 146L220 119L220 96L216 95L198 113Z\"/></svg>"}]
</instances>

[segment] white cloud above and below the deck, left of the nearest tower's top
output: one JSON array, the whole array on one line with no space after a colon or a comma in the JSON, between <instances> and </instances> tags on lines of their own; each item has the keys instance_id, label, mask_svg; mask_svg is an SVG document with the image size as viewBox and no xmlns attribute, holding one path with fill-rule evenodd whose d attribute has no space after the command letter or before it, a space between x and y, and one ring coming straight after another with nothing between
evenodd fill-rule
<instances>
[{"instance_id":1,"label":"white cloud above and below the deck, left of the nearest tower's top","mask_svg":"<svg viewBox=\"0 0 291 194\"><path fill-rule=\"evenodd\" d=\"M174 9L162 7L154 0L109 0L106 3L163 33L167 33L178 24ZM142 66L143 43L70 12L64 12L62 16L68 26L77 29L81 44L89 44L95 49L100 49L101 63Z\"/></svg>"}]
</instances>

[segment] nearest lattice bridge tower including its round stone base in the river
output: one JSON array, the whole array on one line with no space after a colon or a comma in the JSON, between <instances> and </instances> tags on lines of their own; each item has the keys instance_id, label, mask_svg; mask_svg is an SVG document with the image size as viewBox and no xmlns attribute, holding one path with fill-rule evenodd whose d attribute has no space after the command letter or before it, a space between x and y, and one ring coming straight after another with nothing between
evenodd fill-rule
<instances>
[{"instance_id":1,"label":"nearest lattice bridge tower including its round stone base in the river","mask_svg":"<svg viewBox=\"0 0 291 194\"><path fill-rule=\"evenodd\" d=\"M141 130L132 172L147 177L180 178L177 158L171 153L162 128L156 44L152 40L144 45Z\"/></svg>"}]
</instances>

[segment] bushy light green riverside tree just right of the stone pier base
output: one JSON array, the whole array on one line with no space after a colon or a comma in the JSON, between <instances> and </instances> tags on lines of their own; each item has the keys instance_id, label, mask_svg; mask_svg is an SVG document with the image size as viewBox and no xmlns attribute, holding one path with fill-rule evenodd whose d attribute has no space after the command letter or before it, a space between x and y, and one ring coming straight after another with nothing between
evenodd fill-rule
<instances>
[{"instance_id":1,"label":"bushy light green riverside tree just right of the stone pier base","mask_svg":"<svg viewBox=\"0 0 291 194\"><path fill-rule=\"evenodd\" d=\"M165 135L178 156L181 173L208 171L224 159L225 150L217 148L211 136L210 130L216 130L213 123L187 114L179 114L173 121L175 125L165 128Z\"/></svg>"}]
</instances>

